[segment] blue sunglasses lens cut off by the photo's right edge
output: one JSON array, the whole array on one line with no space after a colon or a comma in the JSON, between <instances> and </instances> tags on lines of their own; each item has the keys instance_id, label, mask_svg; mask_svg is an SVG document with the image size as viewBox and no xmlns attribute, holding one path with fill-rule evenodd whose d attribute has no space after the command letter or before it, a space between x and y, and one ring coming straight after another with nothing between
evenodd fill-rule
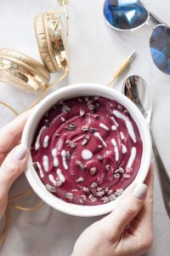
<instances>
[{"instance_id":1,"label":"blue sunglasses lens cut off by the photo's right edge","mask_svg":"<svg viewBox=\"0 0 170 256\"><path fill-rule=\"evenodd\" d=\"M170 28L156 26L150 37L152 59L162 72L170 74Z\"/></svg>"}]
</instances>

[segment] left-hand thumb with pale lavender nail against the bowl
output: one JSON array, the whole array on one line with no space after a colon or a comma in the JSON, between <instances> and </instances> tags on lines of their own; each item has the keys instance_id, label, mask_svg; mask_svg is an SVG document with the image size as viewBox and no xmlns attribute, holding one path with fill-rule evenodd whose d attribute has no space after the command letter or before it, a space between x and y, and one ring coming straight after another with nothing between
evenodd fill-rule
<instances>
[{"instance_id":1,"label":"left-hand thumb with pale lavender nail against the bowl","mask_svg":"<svg viewBox=\"0 0 170 256\"><path fill-rule=\"evenodd\" d=\"M8 198L8 190L14 180L25 170L28 160L26 146L20 145L14 148L0 167L0 204Z\"/></svg>"}]
</instances>

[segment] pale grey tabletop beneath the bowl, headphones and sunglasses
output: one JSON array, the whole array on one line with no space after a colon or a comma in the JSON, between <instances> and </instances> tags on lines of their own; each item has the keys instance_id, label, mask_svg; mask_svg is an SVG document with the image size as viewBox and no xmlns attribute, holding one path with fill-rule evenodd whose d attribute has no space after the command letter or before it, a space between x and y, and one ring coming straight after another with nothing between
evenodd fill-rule
<instances>
[{"instance_id":1,"label":"pale grey tabletop beneath the bowl, headphones and sunglasses","mask_svg":"<svg viewBox=\"0 0 170 256\"><path fill-rule=\"evenodd\" d=\"M148 3L150 2L150 3ZM169 1L145 1L158 15L167 14ZM67 84L92 82L107 84L117 67L133 49L137 57L131 67L116 81L114 87L121 90L122 81L131 73L141 75L150 85L154 112L152 129L162 159L170 173L170 85L169 76L156 69L150 57L149 39L151 29L143 26L135 32L114 32L105 25L103 0L71 0L69 12L69 60L70 73L58 88ZM160 4L160 8L157 7ZM55 0L6 0L1 2L0 47L18 49L40 61L37 42L33 30L34 17L47 10L58 9ZM165 15L170 24L170 16ZM56 79L59 75L53 75ZM18 111L26 109L36 96L26 95L0 84L0 100L10 103ZM0 125L6 124L14 116L0 107ZM23 175L14 184L12 193L29 187ZM147 256L167 256L170 251L170 222L164 209L157 172L154 187L154 244ZM22 200L25 205L36 204L36 195ZM99 218L77 218L57 212L44 205L37 212L11 210L12 223L8 237L0 249L2 256L67 256L79 236L89 224ZM2 224L0 227L2 229ZM81 253L80 253L81 255Z\"/></svg>"}]
</instances>

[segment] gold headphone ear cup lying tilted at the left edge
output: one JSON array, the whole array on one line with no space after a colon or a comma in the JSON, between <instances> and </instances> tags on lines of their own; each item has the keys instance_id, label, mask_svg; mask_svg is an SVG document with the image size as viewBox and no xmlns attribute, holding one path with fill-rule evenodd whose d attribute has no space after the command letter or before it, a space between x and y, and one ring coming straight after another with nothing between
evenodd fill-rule
<instances>
[{"instance_id":1,"label":"gold headphone ear cup lying tilted at the left edge","mask_svg":"<svg viewBox=\"0 0 170 256\"><path fill-rule=\"evenodd\" d=\"M48 86L50 74L38 61L14 49L0 49L0 73L4 82L23 90L37 91Z\"/></svg>"}]
</instances>

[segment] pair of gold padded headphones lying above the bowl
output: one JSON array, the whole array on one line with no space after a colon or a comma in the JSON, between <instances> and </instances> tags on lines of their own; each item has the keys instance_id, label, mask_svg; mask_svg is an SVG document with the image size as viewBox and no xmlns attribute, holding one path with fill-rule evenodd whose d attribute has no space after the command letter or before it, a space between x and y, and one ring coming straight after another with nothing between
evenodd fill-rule
<instances>
[{"instance_id":1,"label":"pair of gold padded headphones lying above the bowl","mask_svg":"<svg viewBox=\"0 0 170 256\"><path fill-rule=\"evenodd\" d=\"M68 19L65 8L68 1L58 1L63 5L62 11L37 15L34 21L37 45L44 66L20 51L0 49L0 81L35 92L48 88L50 73L68 72L66 32L61 22L62 15Z\"/></svg>"}]
</instances>

